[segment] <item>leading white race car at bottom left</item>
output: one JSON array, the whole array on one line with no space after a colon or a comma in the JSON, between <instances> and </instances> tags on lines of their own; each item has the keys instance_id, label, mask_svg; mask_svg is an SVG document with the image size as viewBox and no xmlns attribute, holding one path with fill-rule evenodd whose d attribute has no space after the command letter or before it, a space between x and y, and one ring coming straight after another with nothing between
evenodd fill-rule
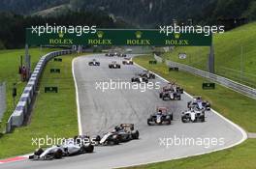
<instances>
[{"instance_id":1,"label":"leading white race car at bottom left","mask_svg":"<svg viewBox=\"0 0 256 169\"><path fill-rule=\"evenodd\" d=\"M46 150L42 148L35 151L34 155L29 155L29 159L59 159L62 156L92 153L94 146L88 142L78 144L73 138L65 139L62 145L54 145Z\"/></svg>"}]
</instances>

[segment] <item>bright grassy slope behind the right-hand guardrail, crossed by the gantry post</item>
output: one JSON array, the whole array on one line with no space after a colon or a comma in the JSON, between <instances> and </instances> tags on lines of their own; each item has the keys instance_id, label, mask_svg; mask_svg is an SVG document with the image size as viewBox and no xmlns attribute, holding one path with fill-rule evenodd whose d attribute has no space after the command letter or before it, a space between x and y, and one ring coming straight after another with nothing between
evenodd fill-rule
<instances>
[{"instance_id":1,"label":"bright grassy slope behind the right-hand guardrail, crossed by the gantry post","mask_svg":"<svg viewBox=\"0 0 256 169\"><path fill-rule=\"evenodd\" d=\"M215 52L215 70L217 74L227 76L246 85L256 87L256 22L246 24L224 34L213 36ZM242 75L240 79L240 61L242 46ZM185 52L187 59L178 59L178 53ZM209 47L176 47L164 54L166 59L187 64L201 70L207 70Z\"/></svg>"}]
</instances>

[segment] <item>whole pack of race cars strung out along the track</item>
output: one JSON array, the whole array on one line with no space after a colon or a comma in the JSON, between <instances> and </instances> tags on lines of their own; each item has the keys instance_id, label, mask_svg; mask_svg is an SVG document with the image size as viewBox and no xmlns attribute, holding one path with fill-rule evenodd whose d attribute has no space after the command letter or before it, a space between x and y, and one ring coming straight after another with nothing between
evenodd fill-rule
<instances>
[{"instance_id":1,"label":"whole pack of race cars strung out along the track","mask_svg":"<svg viewBox=\"0 0 256 169\"><path fill-rule=\"evenodd\" d=\"M131 58L126 58L125 54L107 53L108 57L125 57L122 61L123 65L133 65ZM100 62L93 59L88 62L88 66L100 66ZM109 64L110 69L120 69L121 66L116 61ZM155 79L155 74L149 70L143 70L136 73L131 78L131 82L148 83L148 80ZM183 89L176 83L168 83L159 91L159 99L181 100ZM206 111L210 110L210 103L197 96L187 102L187 109L181 112L180 119L182 123L205 122ZM146 120L148 126L171 125L174 120L174 113L166 106L157 106L156 110L149 115ZM134 124L120 124L115 126L111 131L102 135L90 137L88 135L79 135L74 138L64 139L61 144L53 145L47 149L37 149L33 155L29 155L29 159L47 160L59 159L63 156L80 155L93 153L95 146L118 145L131 140L139 139L140 132L135 129Z\"/></svg>"}]
</instances>

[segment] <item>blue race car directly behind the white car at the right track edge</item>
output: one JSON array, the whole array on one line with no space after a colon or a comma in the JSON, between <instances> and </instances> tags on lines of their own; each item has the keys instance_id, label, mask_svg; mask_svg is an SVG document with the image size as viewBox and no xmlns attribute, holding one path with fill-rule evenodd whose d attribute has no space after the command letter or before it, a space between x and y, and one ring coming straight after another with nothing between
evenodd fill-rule
<instances>
[{"instance_id":1,"label":"blue race car directly behind the white car at the right track edge","mask_svg":"<svg viewBox=\"0 0 256 169\"><path fill-rule=\"evenodd\" d=\"M187 108L196 106L198 109L210 110L210 103L208 100L203 100L202 97L193 97L192 101L187 102Z\"/></svg>"}]
</instances>

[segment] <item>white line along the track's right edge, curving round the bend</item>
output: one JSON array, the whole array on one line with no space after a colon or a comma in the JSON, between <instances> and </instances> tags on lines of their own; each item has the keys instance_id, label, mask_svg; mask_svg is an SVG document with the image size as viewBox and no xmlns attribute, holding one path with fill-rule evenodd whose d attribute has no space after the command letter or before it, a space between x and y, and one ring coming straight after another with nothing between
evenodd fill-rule
<instances>
[{"instance_id":1,"label":"white line along the track's right edge, curving round the bend","mask_svg":"<svg viewBox=\"0 0 256 169\"><path fill-rule=\"evenodd\" d=\"M143 70L146 70L144 69L144 67L134 63L135 66L143 69ZM150 70L151 71L151 70ZM161 77L159 74L151 71L152 73L154 73L157 77L159 77L160 79L164 80L165 82L169 82L167 79L165 79L164 77ZM193 99L193 97L191 95L189 95L188 93L184 92L185 95L187 95L189 98ZM183 155L183 156L179 156L179 157L176 157L176 158L172 158L172 159L163 159L163 160L156 160L156 161L150 161L150 162L147 162L147 163L138 163L136 165L132 165L132 166L137 166L137 165L145 165L145 164L151 164L151 163L156 163L156 162L163 162L163 161L167 161L167 160L174 160L174 159L180 159L180 158L185 158L185 157L191 157L191 156L196 156L196 155L206 155L206 154L210 154L210 153L213 153L213 152L218 152L218 151L222 151L222 150L225 150L225 149L229 149L229 148L232 148L234 146L237 146L239 145L240 143L242 143L243 141L245 141L247 139L247 133L241 128L239 127L237 124L231 122L229 119L225 118L224 116L222 116L221 114L219 114L218 112L216 112L215 110L213 109L210 109L213 113L215 113L216 115L218 115L220 118L222 118L224 121L226 121L227 123L229 123L230 125L232 125L233 127L236 127L237 129L240 130L241 134L242 134L242 138L240 139L239 142L237 143L234 143L230 146L227 146L227 147L224 147L224 148L220 148L220 149L216 149L216 150L212 150L212 151L208 151L208 152L205 152L205 153L200 153L200 154L195 154L195 155ZM122 168L122 167L132 167L132 166L118 166L118 168Z\"/></svg>"}]
</instances>

